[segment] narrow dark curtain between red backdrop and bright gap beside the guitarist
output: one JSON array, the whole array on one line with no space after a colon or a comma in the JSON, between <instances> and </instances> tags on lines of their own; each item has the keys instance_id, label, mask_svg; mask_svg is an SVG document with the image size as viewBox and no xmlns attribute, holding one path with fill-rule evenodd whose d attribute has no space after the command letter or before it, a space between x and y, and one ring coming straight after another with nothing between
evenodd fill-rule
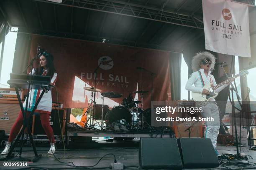
<instances>
[{"instance_id":1,"label":"narrow dark curtain between red backdrop and bright gap beside the guitarist","mask_svg":"<svg viewBox=\"0 0 256 170\"><path fill-rule=\"evenodd\" d=\"M170 80L172 100L180 100L181 53L170 52Z\"/></svg>"}]
</instances>

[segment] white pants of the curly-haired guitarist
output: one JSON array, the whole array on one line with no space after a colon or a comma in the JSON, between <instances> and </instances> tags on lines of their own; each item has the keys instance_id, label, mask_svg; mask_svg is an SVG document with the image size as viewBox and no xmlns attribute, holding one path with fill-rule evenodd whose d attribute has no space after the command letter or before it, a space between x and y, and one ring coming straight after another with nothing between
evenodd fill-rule
<instances>
[{"instance_id":1,"label":"white pants of the curly-haired guitarist","mask_svg":"<svg viewBox=\"0 0 256 170\"><path fill-rule=\"evenodd\" d=\"M220 129L220 113L215 101L209 101L202 108L202 117L212 117L214 119L214 121L205 121L205 138L209 138L212 141L213 148L216 149Z\"/></svg>"}]
</instances>

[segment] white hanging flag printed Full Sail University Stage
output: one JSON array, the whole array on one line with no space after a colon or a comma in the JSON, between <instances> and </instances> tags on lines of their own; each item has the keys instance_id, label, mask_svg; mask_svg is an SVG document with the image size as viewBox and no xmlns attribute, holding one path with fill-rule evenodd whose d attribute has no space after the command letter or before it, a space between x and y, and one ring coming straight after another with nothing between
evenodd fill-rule
<instances>
[{"instance_id":1,"label":"white hanging flag printed Full Sail University Stage","mask_svg":"<svg viewBox=\"0 0 256 170\"><path fill-rule=\"evenodd\" d=\"M251 57L248 6L226 0L202 0L205 49Z\"/></svg>"}]
</instances>

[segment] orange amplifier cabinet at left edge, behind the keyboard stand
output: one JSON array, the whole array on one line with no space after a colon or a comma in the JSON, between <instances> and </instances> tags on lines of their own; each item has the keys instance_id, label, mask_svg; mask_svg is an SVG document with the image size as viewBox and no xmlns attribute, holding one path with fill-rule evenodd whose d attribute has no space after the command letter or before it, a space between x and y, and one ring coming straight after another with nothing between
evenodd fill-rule
<instances>
[{"instance_id":1,"label":"orange amplifier cabinet at left edge, behind the keyboard stand","mask_svg":"<svg viewBox=\"0 0 256 170\"><path fill-rule=\"evenodd\" d=\"M5 130L6 135L10 134L19 112L18 101L0 100L0 130Z\"/></svg>"}]
</instances>

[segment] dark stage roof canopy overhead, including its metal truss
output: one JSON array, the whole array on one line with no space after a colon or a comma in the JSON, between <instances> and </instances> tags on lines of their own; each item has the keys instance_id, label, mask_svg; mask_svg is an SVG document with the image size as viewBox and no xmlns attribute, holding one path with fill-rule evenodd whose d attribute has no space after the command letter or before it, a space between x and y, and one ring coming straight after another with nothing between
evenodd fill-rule
<instances>
[{"instance_id":1,"label":"dark stage roof canopy overhead, including its metal truss","mask_svg":"<svg viewBox=\"0 0 256 170\"><path fill-rule=\"evenodd\" d=\"M19 32L172 52L204 35L201 0L1 0L0 10Z\"/></svg>"}]
</instances>

